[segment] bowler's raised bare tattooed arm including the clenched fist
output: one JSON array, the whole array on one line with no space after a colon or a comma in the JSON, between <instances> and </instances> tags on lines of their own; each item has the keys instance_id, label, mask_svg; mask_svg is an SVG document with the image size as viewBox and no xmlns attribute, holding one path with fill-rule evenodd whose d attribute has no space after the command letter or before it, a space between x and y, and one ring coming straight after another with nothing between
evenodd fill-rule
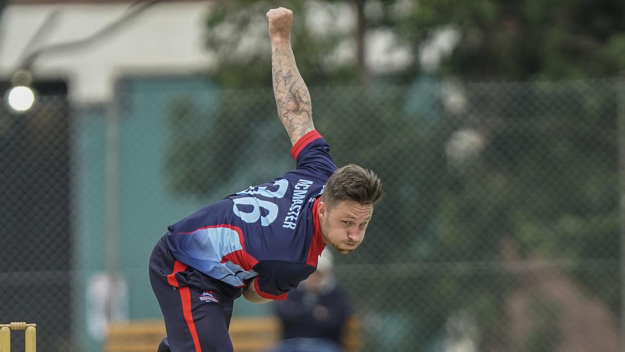
<instances>
[{"instance_id":1,"label":"bowler's raised bare tattooed arm including the clenched fist","mask_svg":"<svg viewBox=\"0 0 625 352\"><path fill-rule=\"evenodd\" d=\"M299 75L291 49L293 12L285 8L271 9L267 12L267 21L277 115L295 145L299 138L314 130L314 126L310 93Z\"/></svg>"}]
</instances>

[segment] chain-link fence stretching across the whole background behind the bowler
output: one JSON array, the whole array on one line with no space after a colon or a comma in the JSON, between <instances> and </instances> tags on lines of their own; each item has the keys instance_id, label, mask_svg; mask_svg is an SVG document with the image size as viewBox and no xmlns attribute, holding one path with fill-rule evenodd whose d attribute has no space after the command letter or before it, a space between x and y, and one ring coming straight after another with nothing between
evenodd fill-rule
<instances>
[{"instance_id":1,"label":"chain-link fence stretching across the whole background behind the bowler","mask_svg":"<svg viewBox=\"0 0 625 352\"><path fill-rule=\"evenodd\" d=\"M93 350L107 304L158 318L146 262L166 226L294 167L271 90L126 83L101 111L50 98L0 116L0 319L39 323L42 351ZM337 165L386 189L336 258L362 351L619 350L620 81L311 96ZM123 299L101 294L107 271Z\"/></svg>"}]
</instances>

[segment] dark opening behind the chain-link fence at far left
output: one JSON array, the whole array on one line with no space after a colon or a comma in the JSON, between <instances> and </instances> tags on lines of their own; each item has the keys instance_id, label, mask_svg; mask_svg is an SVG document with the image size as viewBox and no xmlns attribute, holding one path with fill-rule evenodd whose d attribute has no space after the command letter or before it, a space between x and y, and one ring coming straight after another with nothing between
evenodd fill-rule
<instances>
[{"instance_id":1,"label":"dark opening behind the chain-link fence at far left","mask_svg":"<svg viewBox=\"0 0 625 352\"><path fill-rule=\"evenodd\" d=\"M73 167L68 101L0 113L0 321L43 323L44 350L67 347L73 319ZM24 348L23 331L11 335Z\"/></svg>"}]
</instances>

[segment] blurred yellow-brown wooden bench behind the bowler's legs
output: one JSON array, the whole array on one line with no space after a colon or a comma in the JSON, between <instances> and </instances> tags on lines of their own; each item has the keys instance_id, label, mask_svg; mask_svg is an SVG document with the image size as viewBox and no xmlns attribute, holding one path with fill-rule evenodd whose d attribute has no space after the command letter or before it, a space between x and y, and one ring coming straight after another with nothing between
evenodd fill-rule
<instances>
[{"instance_id":1,"label":"blurred yellow-brown wooden bench behind the bowler's legs","mask_svg":"<svg viewBox=\"0 0 625 352\"><path fill-rule=\"evenodd\" d=\"M361 319L357 317L347 323L342 341L344 351L359 351L361 327ZM274 317L233 317L229 333L235 352L262 352L279 341L281 331ZM113 323L108 329L104 351L156 352L165 335L165 326L159 320Z\"/></svg>"}]
</instances>

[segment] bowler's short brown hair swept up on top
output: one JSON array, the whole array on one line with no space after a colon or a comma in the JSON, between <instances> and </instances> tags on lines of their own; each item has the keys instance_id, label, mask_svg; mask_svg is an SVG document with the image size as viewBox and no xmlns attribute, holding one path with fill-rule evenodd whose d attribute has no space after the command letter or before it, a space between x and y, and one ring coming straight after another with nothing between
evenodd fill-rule
<instances>
[{"instance_id":1,"label":"bowler's short brown hair swept up on top","mask_svg":"<svg viewBox=\"0 0 625 352\"><path fill-rule=\"evenodd\" d=\"M329 208L341 200L375 205L382 195L382 181L374 172L349 164L332 173L321 200Z\"/></svg>"}]
</instances>

